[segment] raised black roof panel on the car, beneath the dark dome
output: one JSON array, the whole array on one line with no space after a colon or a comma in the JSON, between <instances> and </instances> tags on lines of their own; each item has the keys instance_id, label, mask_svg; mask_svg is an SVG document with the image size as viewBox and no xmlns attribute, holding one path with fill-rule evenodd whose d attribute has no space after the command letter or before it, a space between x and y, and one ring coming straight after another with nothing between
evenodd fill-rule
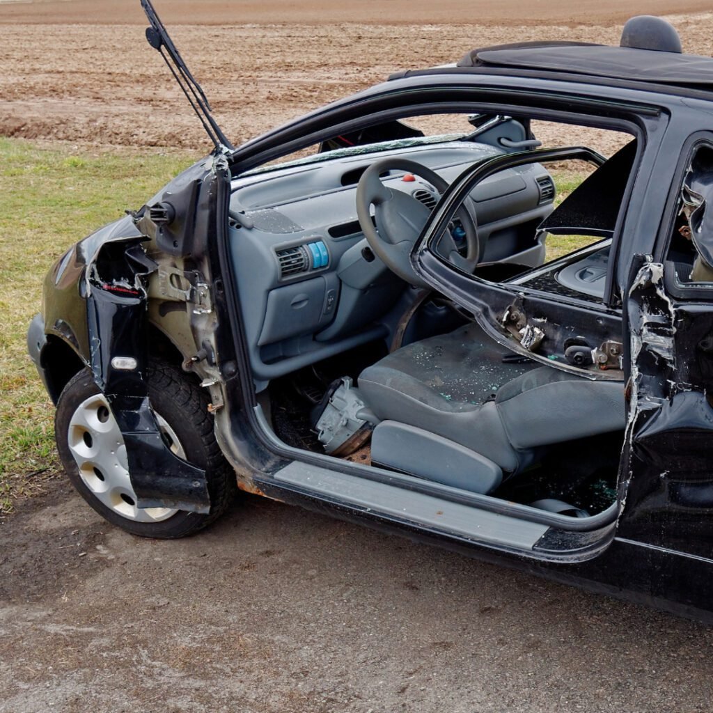
<instances>
[{"instance_id":1,"label":"raised black roof panel on the car, beneath the dark dome","mask_svg":"<svg viewBox=\"0 0 713 713\"><path fill-rule=\"evenodd\" d=\"M474 49L458 68L511 68L713 91L713 58L578 42L524 42Z\"/></svg>"}]
</instances>

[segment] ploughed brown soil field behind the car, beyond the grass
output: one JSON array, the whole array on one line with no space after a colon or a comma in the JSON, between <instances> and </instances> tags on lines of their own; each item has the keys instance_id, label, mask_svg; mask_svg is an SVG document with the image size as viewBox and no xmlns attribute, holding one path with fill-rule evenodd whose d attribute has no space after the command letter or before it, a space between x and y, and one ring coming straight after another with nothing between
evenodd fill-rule
<instances>
[{"instance_id":1,"label":"ploughed brown soil field behind the car, beyond the grass","mask_svg":"<svg viewBox=\"0 0 713 713\"><path fill-rule=\"evenodd\" d=\"M34 13L39 20L38 9L48 21L66 21L80 5L72 0L0 2L0 135L207 150L197 118L145 42L140 24L2 24L20 12ZM396 0L385 4L390 13L396 5ZM116 14L116 4L108 9ZM627 8L626 14L630 12ZM125 19L133 14L134 3ZM215 18L202 5L198 15L202 21ZM233 15L237 21L237 12ZM106 19L101 13L93 16ZM503 15L493 24L399 26L339 24L332 12L327 17L330 22L324 24L178 25L170 30L212 101L215 117L236 144L393 71L455 61L473 46L563 37L616 43L621 31L616 14L605 24L569 28L504 24ZM284 16L276 14L275 19ZM713 14L672 19L687 51L711 53Z\"/></svg>"}]
</instances>

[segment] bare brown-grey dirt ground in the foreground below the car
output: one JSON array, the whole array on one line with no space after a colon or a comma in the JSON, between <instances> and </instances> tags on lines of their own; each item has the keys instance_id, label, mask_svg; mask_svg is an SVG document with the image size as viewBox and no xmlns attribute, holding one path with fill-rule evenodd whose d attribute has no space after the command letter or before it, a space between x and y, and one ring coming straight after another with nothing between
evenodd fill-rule
<instances>
[{"instance_id":1,"label":"bare brown-grey dirt ground in the foreground below the car","mask_svg":"<svg viewBox=\"0 0 713 713\"><path fill-rule=\"evenodd\" d=\"M250 496L178 541L4 525L1 713L709 712L713 631Z\"/></svg>"}]
</instances>

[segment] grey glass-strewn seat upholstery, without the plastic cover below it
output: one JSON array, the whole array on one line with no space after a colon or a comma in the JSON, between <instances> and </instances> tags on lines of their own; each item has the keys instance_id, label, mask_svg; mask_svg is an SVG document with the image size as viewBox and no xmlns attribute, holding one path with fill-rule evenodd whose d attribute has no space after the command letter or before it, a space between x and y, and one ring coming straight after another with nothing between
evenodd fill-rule
<instances>
[{"instance_id":1,"label":"grey glass-strewn seat upholstery, without the plastic cover below it","mask_svg":"<svg viewBox=\"0 0 713 713\"><path fill-rule=\"evenodd\" d=\"M505 473L553 443L624 429L622 382L503 362L508 354L469 324L385 356L361 372L359 389L382 421L466 446Z\"/></svg>"}]
</instances>

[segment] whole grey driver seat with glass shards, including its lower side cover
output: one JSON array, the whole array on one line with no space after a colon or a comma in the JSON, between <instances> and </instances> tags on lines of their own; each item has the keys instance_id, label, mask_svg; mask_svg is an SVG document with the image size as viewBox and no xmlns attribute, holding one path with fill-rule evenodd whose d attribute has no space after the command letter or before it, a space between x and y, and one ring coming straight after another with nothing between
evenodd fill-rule
<instances>
[{"instance_id":1,"label":"whole grey driver seat with glass shards, including its lower side cover","mask_svg":"<svg viewBox=\"0 0 713 713\"><path fill-rule=\"evenodd\" d=\"M364 369L375 465L489 493L548 446L623 430L624 385L518 359L476 324Z\"/></svg>"}]
</instances>

